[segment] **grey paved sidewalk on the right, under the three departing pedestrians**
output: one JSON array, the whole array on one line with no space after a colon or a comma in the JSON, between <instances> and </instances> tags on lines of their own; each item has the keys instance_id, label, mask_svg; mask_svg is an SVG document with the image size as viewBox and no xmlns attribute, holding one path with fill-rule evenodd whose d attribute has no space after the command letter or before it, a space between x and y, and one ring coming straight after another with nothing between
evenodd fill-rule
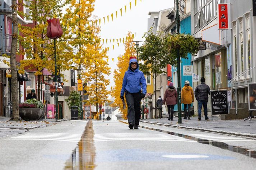
<instances>
[{"instance_id":1,"label":"grey paved sidewalk on the right, under the three departing pedestrians","mask_svg":"<svg viewBox=\"0 0 256 170\"><path fill-rule=\"evenodd\" d=\"M186 128L191 130L200 130L206 132L223 133L229 135L237 135L244 137L256 138L256 119L251 121L243 119L239 120L220 120L219 116L214 116L213 120L209 117L209 121L204 120L202 117L201 121L197 120L197 117L190 117L190 120L183 119L182 124L178 124L178 118L174 117L174 121L168 120L168 118L161 119L143 119L141 122L153 123L156 125L170 126Z\"/></svg>"}]
</instances>

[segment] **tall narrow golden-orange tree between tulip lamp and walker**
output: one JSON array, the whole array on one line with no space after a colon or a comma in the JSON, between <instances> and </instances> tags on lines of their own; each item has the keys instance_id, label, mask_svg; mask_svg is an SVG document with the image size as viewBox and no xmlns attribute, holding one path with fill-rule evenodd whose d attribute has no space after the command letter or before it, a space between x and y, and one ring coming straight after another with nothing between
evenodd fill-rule
<instances>
[{"instance_id":1,"label":"tall narrow golden-orange tree between tulip lamp and walker","mask_svg":"<svg viewBox=\"0 0 256 170\"><path fill-rule=\"evenodd\" d=\"M87 86L84 87L89 96L87 104L96 106L98 112L98 105L107 100L109 91L107 86L110 84L110 80L106 79L105 76L110 75L110 67L103 58L108 59L107 49L103 49L101 45L101 39L98 37L100 31L97 26L97 21L92 24L92 42L88 43L85 48L85 60L82 64L86 68L82 73L82 78L87 82Z\"/></svg>"}]
</instances>

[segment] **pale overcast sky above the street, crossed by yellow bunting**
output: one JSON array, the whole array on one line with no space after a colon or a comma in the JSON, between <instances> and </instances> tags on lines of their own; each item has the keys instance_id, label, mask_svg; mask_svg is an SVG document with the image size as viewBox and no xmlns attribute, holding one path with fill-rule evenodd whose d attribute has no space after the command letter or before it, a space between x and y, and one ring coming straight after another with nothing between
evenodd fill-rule
<instances>
[{"instance_id":1,"label":"pale overcast sky above the street, crossed by yellow bunting","mask_svg":"<svg viewBox=\"0 0 256 170\"><path fill-rule=\"evenodd\" d=\"M129 3L131 2L131 10ZM124 6L127 5L127 12L125 13ZM101 19L101 33L99 34L102 39L115 39L115 49L113 50L113 40L110 44L104 42L103 47L110 47L108 52L109 66L111 67L110 90L111 86L114 86L113 71L117 68L117 57L124 53L124 45L121 43L117 47L116 39L126 36L128 31L134 33L134 40L143 41L142 36L147 31L147 22L149 18L149 11L159 11L173 7L173 0L137 0L137 6L135 7L135 0L96 0L95 9L93 15L98 18L105 16L105 24ZM120 15L120 8L122 9L122 16ZM118 11L116 19L116 11ZM113 21L111 14L113 13ZM109 22L107 23L107 15L109 15ZM136 34L136 35L135 35ZM142 43L141 43L142 44ZM114 58L114 62L112 61Z\"/></svg>"}]
</instances>

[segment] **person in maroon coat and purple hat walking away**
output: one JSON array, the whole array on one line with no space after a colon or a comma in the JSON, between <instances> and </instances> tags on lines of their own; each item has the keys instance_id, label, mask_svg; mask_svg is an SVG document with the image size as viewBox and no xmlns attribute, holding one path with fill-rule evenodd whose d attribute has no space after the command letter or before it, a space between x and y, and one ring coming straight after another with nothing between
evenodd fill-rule
<instances>
[{"instance_id":1,"label":"person in maroon coat and purple hat walking away","mask_svg":"<svg viewBox=\"0 0 256 170\"><path fill-rule=\"evenodd\" d=\"M164 93L164 101L163 105L167 105L168 108L168 120L173 120L174 106L177 104L178 94L175 87L173 87L173 83L169 84L169 87L166 89Z\"/></svg>"}]
</instances>

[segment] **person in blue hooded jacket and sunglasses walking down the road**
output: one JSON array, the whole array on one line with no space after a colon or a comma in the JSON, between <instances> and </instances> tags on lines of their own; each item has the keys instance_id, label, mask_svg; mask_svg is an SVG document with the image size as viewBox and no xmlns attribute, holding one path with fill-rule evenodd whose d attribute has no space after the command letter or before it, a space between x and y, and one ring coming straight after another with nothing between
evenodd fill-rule
<instances>
[{"instance_id":1,"label":"person in blue hooded jacket and sunglasses walking down the road","mask_svg":"<svg viewBox=\"0 0 256 170\"><path fill-rule=\"evenodd\" d=\"M141 93L142 88L142 93ZM138 129L140 122L140 101L146 96L146 79L136 57L130 57L129 68L125 72L120 98L124 101L124 93L128 106L127 119L130 129Z\"/></svg>"}]
</instances>

